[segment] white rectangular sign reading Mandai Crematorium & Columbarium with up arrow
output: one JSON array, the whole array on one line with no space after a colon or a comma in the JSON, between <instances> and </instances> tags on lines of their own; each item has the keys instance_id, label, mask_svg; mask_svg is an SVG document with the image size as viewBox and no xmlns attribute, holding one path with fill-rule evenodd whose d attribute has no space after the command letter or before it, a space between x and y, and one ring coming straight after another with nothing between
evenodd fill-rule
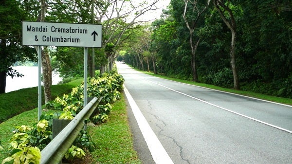
<instances>
[{"instance_id":1,"label":"white rectangular sign reading Mandai Crematorium & Columbarium with up arrow","mask_svg":"<svg viewBox=\"0 0 292 164\"><path fill-rule=\"evenodd\" d=\"M22 44L102 47L102 25L23 21Z\"/></svg>"}]
</instances>

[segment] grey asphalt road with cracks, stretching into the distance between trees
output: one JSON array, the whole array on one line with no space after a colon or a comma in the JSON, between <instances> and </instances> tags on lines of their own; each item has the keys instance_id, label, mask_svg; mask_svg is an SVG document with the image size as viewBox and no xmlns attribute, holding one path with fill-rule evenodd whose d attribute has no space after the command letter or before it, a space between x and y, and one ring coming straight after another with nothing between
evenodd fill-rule
<instances>
[{"instance_id":1,"label":"grey asphalt road with cracks, stretching into the distance between trees","mask_svg":"<svg viewBox=\"0 0 292 164\"><path fill-rule=\"evenodd\" d=\"M159 144L151 146L152 139L147 139L152 130L174 164L292 164L291 106L164 80L126 64L117 66L133 98L129 107L135 110L129 111L129 120L144 164L164 163L153 152L159 149L153 145ZM150 129L138 125L143 119L134 116L133 102Z\"/></svg>"}]
</instances>

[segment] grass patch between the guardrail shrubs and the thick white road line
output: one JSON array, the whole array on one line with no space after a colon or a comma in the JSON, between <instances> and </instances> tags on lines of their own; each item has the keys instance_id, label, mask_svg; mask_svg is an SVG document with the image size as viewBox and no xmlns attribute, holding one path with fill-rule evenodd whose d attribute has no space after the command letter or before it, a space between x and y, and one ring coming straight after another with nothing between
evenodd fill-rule
<instances>
[{"instance_id":1,"label":"grass patch between the guardrail shrubs and the thick white road line","mask_svg":"<svg viewBox=\"0 0 292 164\"><path fill-rule=\"evenodd\" d=\"M124 95L113 106L107 123L89 128L98 147L91 154L92 164L141 164L133 148Z\"/></svg>"}]
</instances>

